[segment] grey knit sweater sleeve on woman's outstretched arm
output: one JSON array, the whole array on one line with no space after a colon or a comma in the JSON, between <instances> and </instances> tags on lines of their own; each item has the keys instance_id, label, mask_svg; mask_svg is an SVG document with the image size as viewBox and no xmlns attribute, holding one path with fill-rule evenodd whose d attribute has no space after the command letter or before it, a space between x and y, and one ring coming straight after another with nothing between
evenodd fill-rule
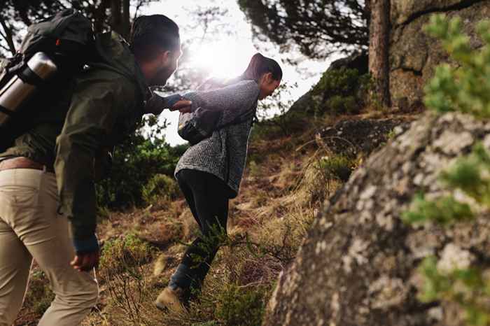
<instances>
[{"instance_id":1,"label":"grey knit sweater sleeve on woman's outstretched arm","mask_svg":"<svg viewBox=\"0 0 490 326\"><path fill-rule=\"evenodd\" d=\"M193 101L192 111L202 107L222 112L220 125L226 125L235 120L256 105L259 87L253 80L243 80L216 90L190 92L184 98Z\"/></svg>"}]
</instances>

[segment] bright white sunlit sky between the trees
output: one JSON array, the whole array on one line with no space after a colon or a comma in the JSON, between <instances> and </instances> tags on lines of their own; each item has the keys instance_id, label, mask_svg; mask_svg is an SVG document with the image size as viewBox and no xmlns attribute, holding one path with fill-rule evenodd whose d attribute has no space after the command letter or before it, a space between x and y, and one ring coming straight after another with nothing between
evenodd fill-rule
<instances>
[{"instance_id":1,"label":"bright white sunlit sky between the trees","mask_svg":"<svg viewBox=\"0 0 490 326\"><path fill-rule=\"evenodd\" d=\"M209 22L209 29L204 33L203 24L195 22L197 8L219 7L226 14L218 21ZM280 54L279 46L273 43L256 43L252 39L251 26L246 22L237 0L162 0L152 2L146 8L141 8L141 14L163 14L172 18L181 27L182 42L192 41L188 48L190 62L187 69L204 69L209 76L230 78L242 73L251 57L260 52L266 57L272 57L281 64L283 69L282 83L297 87L291 91L291 97L298 99L318 82L321 73L328 68L330 62L314 61L302 57L299 52L292 51ZM204 37L203 37L204 36ZM284 59L299 59L300 64L293 66ZM167 93L169 94L169 93ZM164 92L164 94L166 93ZM260 105L260 104L259 104ZM274 111L271 113L274 114ZM167 142L175 146L185 143L177 134L179 113L164 111L161 118L170 122L165 130Z\"/></svg>"}]
</instances>

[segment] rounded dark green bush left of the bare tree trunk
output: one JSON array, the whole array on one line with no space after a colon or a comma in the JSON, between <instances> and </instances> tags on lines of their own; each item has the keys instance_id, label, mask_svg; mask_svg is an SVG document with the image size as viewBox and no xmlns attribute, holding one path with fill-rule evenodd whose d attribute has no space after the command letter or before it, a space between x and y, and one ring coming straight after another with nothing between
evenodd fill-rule
<instances>
[{"instance_id":1,"label":"rounded dark green bush left of the bare tree trunk","mask_svg":"<svg viewBox=\"0 0 490 326\"><path fill-rule=\"evenodd\" d=\"M330 69L323 73L312 90L314 113L354 114L365 106L370 76L360 75L357 69L345 67Z\"/></svg>"}]
</instances>

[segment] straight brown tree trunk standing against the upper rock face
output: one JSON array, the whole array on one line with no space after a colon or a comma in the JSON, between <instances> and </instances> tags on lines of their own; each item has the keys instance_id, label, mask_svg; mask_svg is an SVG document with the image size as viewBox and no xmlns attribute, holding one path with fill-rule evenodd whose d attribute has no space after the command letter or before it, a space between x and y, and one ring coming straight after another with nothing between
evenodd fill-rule
<instances>
[{"instance_id":1,"label":"straight brown tree trunk standing against the upper rock face","mask_svg":"<svg viewBox=\"0 0 490 326\"><path fill-rule=\"evenodd\" d=\"M373 92L383 106L389 107L390 0L371 0L370 10L369 71L374 80Z\"/></svg>"}]
</instances>

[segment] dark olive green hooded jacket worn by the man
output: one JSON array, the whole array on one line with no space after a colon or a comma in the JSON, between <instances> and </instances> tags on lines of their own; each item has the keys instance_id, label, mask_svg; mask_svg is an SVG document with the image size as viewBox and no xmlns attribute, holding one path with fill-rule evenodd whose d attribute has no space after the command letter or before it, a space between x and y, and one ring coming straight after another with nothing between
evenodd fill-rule
<instances>
[{"instance_id":1,"label":"dark olive green hooded jacket worn by the man","mask_svg":"<svg viewBox=\"0 0 490 326\"><path fill-rule=\"evenodd\" d=\"M71 220L73 236L85 239L96 227L94 162L134 132L151 92L121 36L97 36L102 60L72 78L61 99L43 108L35 126L0 157L25 156L55 167L59 213ZM65 106L65 108L63 108Z\"/></svg>"}]
</instances>

